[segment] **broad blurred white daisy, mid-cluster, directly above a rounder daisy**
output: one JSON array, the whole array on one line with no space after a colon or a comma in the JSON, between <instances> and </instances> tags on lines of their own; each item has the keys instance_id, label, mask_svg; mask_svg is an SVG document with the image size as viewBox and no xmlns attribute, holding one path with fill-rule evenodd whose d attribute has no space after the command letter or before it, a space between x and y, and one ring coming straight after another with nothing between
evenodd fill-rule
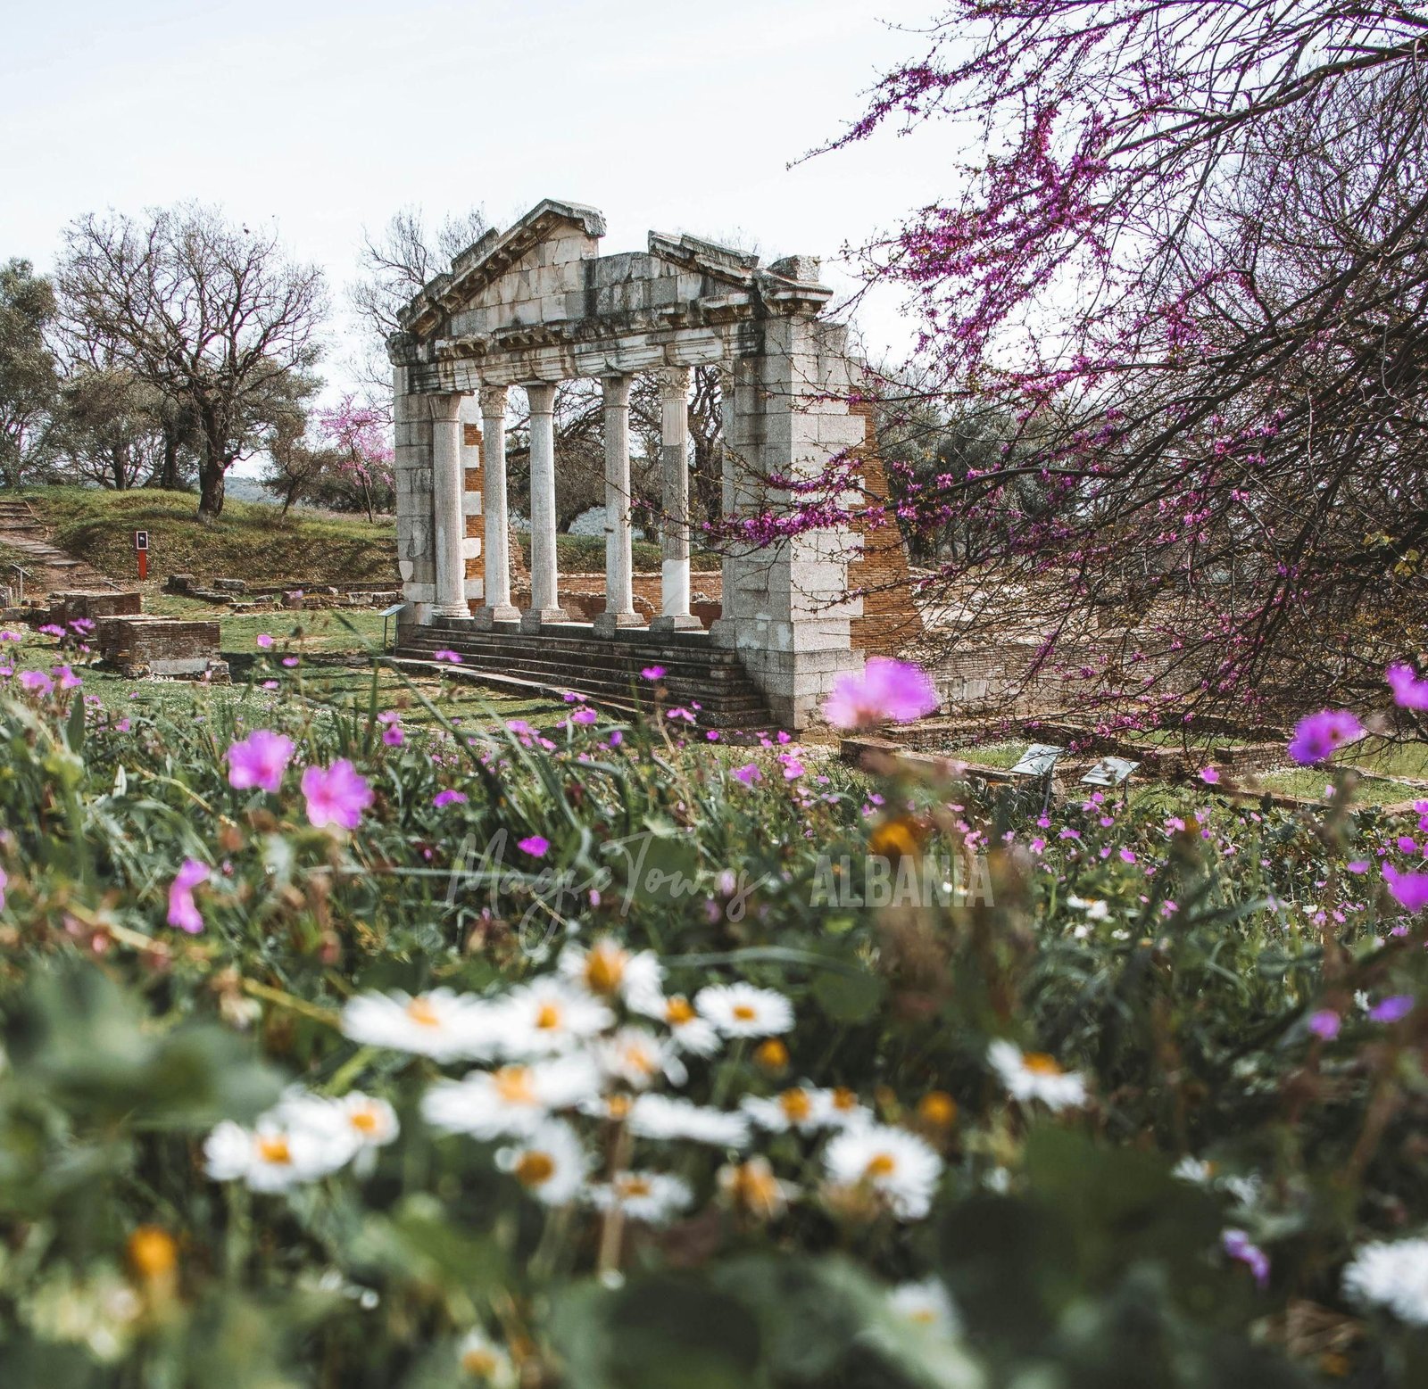
<instances>
[{"instance_id":1,"label":"broad blurred white daisy, mid-cluster, directly above a rounder daisy","mask_svg":"<svg viewBox=\"0 0 1428 1389\"><path fill-rule=\"evenodd\" d=\"M421 1116L444 1133L523 1138L553 1111L571 1109L598 1089L600 1072L587 1055L553 1056L437 1081L421 1098Z\"/></svg>"}]
</instances>

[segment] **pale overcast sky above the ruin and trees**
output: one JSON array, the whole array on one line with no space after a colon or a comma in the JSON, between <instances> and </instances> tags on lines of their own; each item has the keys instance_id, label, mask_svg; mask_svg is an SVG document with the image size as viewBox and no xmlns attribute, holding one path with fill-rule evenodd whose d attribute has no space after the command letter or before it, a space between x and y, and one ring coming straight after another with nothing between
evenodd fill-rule
<instances>
[{"instance_id":1,"label":"pale overcast sky above the ruin and trees","mask_svg":"<svg viewBox=\"0 0 1428 1389\"><path fill-rule=\"evenodd\" d=\"M647 231L837 256L947 191L951 131L795 168L863 110L937 0L31 0L0 21L0 258L49 267L91 210L186 198L328 274L404 204L500 226L543 197ZM902 31L888 26L905 26ZM850 281L837 267L825 278ZM901 351L891 296L861 310ZM334 324L334 335L340 331ZM334 364L341 357L336 343Z\"/></svg>"}]
</instances>

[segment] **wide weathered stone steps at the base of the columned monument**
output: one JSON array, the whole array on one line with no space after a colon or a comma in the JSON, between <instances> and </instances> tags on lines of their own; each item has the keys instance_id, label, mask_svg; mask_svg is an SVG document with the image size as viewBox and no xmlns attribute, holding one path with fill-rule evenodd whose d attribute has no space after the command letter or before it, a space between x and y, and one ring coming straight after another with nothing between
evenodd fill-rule
<instances>
[{"instance_id":1,"label":"wide weathered stone steps at the base of the columned monument","mask_svg":"<svg viewBox=\"0 0 1428 1389\"><path fill-rule=\"evenodd\" d=\"M460 654L461 664L434 662L433 654L441 650ZM476 631L468 622L437 618L430 627L401 630L397 661L441 664L458 678L528 695L558 698L575 691L590 704L624 714L647 712L657 702L667 709L685 708L701 728L754 731L771 725L764 697L738 655L715 647L707 632L627 630L604 638L587 622L561 622L527 635L516 622ZM640 674L653 665L664 667L658 681Z\"/></svg>"}]
</instances>

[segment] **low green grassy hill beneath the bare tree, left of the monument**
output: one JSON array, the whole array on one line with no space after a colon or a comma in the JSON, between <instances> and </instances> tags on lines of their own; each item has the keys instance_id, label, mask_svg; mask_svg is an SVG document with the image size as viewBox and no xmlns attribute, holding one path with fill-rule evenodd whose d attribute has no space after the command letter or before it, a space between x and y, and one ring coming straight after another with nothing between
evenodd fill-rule
<instances>
[{"instance_id":1,"label":"low green grassy hill beneath the bare tree, left of the monument","mask_svg":"<svg viewBox=\"0 0 1428 1389\"><path fill-rule=\"evenodd\" d=\"M203 524L190 493L113 493L87 487L31 487L23 495L61 550L116 580L134 578L134 531L149 531L149 574L197 574L248 582L397 582L391 520L228 501Z\"/></svg>"}]
</instances>

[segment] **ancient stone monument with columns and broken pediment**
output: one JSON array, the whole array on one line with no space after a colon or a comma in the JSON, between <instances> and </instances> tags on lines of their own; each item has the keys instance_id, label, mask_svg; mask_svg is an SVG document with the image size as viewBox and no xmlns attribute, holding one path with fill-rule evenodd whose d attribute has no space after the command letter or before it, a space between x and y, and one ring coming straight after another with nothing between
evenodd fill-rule
<instances>
[{"instance_id":1,"label":"ancient stone monument with columns and broken pediment","mask_svg":"<svg viewBox=\"0 0 1428 1389\"><path fill-rule=\"evenodd\" d=\"M578 630L620 650L665 641L687 654L698 641L737 652L773 717L803 727L834 678L861 664L851 624L863 607L848 595L861 538L838 527L725 550L723 615L705 632L690 611L687 397L691 368L720 368L725 512L788 507L777 481L818 477L868 441L867 410L850 407L860 368L845 354L845 330L820 317L833 291L818 283L811 257L761 267L755 256L658 233L645 251L601 256L604 230L591 207L543 201L457 256L401 315L388 348L407 628L501 634L517 662L533 641L554 644L577 628L560 605L553 411L557 383L597 378L604 390L605 605ZM661 611L648 627L640 625L631 595L630 383L637 373L657 377L663 400ZM511 605L506 417L513 385L530 401L524 612ZM568 678L577 682L580 671Z\"/></svg>"}]
</instances>

